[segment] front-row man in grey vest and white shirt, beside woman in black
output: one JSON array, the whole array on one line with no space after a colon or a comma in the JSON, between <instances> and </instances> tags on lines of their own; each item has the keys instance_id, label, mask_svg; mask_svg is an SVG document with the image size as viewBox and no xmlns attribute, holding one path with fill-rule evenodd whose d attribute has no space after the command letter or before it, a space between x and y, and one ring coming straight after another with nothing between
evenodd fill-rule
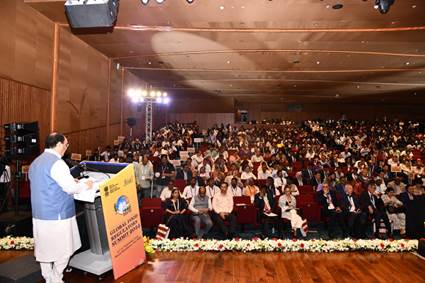
<instances>
[{"instance_id":1,"label":"front-row man in grey vest and white shirt, beside woman in black","mask_svg":"<svg viewBox=\"0 0 425 283\"><path fill-rule=\"evenodd\" d=\"M211 199L207 196L205 187L199 187L198 194L190 201L189 209L193 213L192 220L195 234L198 239L202 239L213 226L209 214L212 210ZM201 229L201 224L205 225L204 229Z\"/></svg>"}]
</instances>

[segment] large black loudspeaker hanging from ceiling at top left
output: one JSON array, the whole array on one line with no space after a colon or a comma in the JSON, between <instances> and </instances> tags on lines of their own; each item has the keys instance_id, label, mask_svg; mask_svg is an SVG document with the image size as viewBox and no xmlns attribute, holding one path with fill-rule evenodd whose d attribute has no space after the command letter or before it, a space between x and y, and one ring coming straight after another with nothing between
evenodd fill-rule
<instances>
[{"instance_id":1,"label":"large black loudspeaker hanging from ceiling at top left","mask_svg":"<svg viewBox=\"0 0 425 283\"><path fill-rule=\"evenodd\" d=\"M72 28L114 26L119 0L67 0L65 13Z\"/></svg>"}]
</instances>

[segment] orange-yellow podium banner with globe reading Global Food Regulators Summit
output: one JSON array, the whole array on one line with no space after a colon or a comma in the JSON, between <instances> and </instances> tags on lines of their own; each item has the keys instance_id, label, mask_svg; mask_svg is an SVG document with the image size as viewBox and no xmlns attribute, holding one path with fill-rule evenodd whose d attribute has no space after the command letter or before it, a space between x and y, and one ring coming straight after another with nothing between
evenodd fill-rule
<instances>
[{"instance_id":1,"label":"orange-yellow podium banner with globe reading Global Food Regulators Summit","mask_svg":"<svg viewBox=\"0 0 425 283\"><path fill-rule=\"evenodd\" d=\"M100 186L106 235L117 279L145 261L134 165Z\"/></svg>"}]
</instances>

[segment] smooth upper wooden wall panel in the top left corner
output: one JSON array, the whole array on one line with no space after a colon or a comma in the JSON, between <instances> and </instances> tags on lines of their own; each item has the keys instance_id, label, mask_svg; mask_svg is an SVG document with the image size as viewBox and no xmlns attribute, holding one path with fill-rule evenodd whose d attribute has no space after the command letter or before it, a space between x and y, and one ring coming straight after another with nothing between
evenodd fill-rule
<instances>
[{"instance_id":1,"label":"smooth upper wooden wall panel in the top left corner","mask_svg":"<svg viewBox=\"0 0 425 283\"><path fill-rule=\"evenodd\" d=\"M21 0L1 0L0 76L50 89L54 24Z\"/></svg>"}]
</instances>

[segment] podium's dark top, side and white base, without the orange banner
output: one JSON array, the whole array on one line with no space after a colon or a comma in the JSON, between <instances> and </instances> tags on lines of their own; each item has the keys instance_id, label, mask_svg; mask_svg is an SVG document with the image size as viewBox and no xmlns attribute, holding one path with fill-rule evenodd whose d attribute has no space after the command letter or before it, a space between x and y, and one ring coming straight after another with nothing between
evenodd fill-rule
<instances>
[{"instance_id":1,"label":"podium's dark top, side and white base, without the orange banner","mask_svg":"<svg viewBox=\"0 0 425 283\"><path fill-rule=\"evenodd\" d=\"M103 217L102 201L99 185L124 169L126 163L81 162L71 169L75 177L89 177L94 180L94 188L82 194L74 195L76 201L84 203L84 218L86 221L90 249L74 255L69 266L97 276L112 269Z\"/></svg>"}]
</instances>

